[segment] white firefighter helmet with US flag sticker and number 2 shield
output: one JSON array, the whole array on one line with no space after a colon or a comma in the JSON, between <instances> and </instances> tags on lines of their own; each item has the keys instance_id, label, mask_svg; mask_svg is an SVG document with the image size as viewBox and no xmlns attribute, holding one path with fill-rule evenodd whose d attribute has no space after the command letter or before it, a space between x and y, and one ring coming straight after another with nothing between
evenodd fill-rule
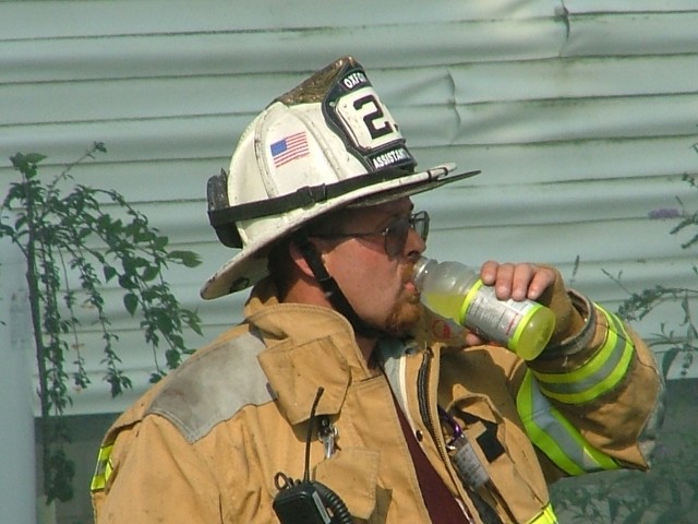
<instances>
[{"instance_id":1,"label":"white firefighter helmet with US flag sticker and number 2 shield","mask_svg":"<svg viewBox=\"0 0 698 524\"><path fill-rule=\"evenodd\" d=\"M344 57L274 100L242 134L229 175L208 180L208 216L242 251L202 287L205 299L253 285L268 248L316 216L372 205L478 174L454 164L416 172L397 123L363 68Z\"/></svg>"}]
</instances>

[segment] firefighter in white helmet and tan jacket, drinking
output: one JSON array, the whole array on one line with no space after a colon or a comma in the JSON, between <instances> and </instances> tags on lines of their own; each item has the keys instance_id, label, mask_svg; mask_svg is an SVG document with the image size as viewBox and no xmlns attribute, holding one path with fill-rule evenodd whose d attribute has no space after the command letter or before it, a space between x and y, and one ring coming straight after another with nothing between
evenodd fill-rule
<instances>
[{"instance_id":1,"label":"firefighter in white helmet and tan jacket, drinking","mask_svg":"<svg viewBox=\"0 0 698 524\"><path fill-rule=\"evenodd\" d=\"M550 483L649 467L652 355L557 270L480 271L500 298L555 313L531 361L422 305L429 215L411 195L477 171L416 166L351 57L252 121L207 188L240 252L201 291L253 286L244 321L109 429L97 524L553 524Z\"/></svg>"}]
</instances>

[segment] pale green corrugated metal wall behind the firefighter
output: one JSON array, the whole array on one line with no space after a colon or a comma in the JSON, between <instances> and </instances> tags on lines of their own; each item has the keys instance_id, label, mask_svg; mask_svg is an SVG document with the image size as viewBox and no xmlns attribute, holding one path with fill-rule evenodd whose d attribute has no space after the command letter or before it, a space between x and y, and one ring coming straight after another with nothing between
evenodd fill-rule
<instances>
[{"instance_id":1,"label":"pale green corrugated metal wall behind the firefighter","mask_svg":"<svg viewBox=\"0 0 698 524\"><path fill-rule=\"evenodd\" d=\"M417 199L433 257L545 261L568 277L578 259L576 287L613 308L625 295L604 271L634 290L695 278L695 252L648 213L697 202L681 178L698 172L698 4L658 3L2 2L0 190L17 151L48 155L48 175L105 142L75 178L117 189L201 253L168 276L208 340L244 298L198 299L232 254L207 225L208 176L272 98L352 53L423 167L483 170ZM120 410L146 385L151 352L124 313L113 321L136 389L110 401L95 374L75 413ZM97 369L97 335L85 341Z\"/></svg>"}]
</instances>

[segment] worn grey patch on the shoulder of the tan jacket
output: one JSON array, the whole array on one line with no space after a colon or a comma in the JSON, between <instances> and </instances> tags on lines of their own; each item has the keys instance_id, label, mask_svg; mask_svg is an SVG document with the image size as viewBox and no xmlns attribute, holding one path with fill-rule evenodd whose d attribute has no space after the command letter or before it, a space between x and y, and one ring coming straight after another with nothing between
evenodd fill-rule
<instances>
[{"instance_id":1,"label":"worn grey patch on the shoulder of the tan jacket","mask_svg":"<svg viewBox=\"0 0 698 524\"><path fill-rule=\"evenodd\" d=\"M193 443L242 407L273 401L256 358L264 348L250 331L215 342L166 379L144 416L168 419Z\"/></svg>"}]
</instances>

